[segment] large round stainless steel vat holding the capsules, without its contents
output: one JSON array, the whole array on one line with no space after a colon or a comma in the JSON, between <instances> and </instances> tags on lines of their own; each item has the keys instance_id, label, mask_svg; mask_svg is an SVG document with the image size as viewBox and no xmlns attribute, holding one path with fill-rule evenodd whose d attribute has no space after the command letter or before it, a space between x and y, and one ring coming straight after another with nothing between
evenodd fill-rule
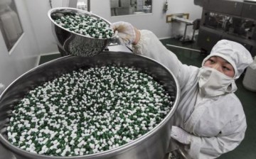
<instances>
[{"instance_id":1,"label":"large round stainless steel vat holding the capsules, without its contents","mask_svg":"<svg viewBox=\"0 0 256 159\"><path fill-rule=\"evenodd\" d=\"M180 90L178 82L174 75L158 62L144 57L142 55L135 55L132 53L124 52L104 52L94 57L76 57L65 56L60 57L57 60L52 60L43 65L39 65L32 70L29 70L25 74L18 77L12 82L9 87L5 89L0 97L0 141L6 146L16 158L60 158L47 155L38 155L29 153L25 150L21 150L16 146L13 146L6 140L6 126L9 124L9 118L11 116L11 110L14 109L14 104L22 99L23 96L34 87L46 82L50 79L54 79L64 73L71 70L78 69L80 67L95 67L104 65L117 65L117 66L129 66L135 67L142 72L146 72L158 82L160 82L166 91L169 92L174 105L169 114L163 121L148 133L144 134L130 143L112 150L107 150L101 153L95 153L92 155L73 156L65 158L90 158L90 159L162 159L166 154L166 150L169 146L169 140L171 138L171 116L173 116L178 99L180 96ZM61 157L63 158L63 157Z\"/></svg>"}]
</instances>

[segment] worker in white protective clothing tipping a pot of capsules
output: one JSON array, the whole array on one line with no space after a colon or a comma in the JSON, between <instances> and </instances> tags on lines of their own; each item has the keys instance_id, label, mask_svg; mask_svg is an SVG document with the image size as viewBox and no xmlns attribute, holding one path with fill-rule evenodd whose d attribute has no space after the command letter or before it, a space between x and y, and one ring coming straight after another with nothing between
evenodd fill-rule
<instances>
[{"instance_id":1,"label":"worker in white protective clothing tipping a pot of capsules","mask_svg":"<svg viewBox=\"0 0 256 159\"><path fill-rule=\"evenodd\" d=\"M178 80L181 94L171 121L171 150L180 150L186 158L217 158L241 143L247 124L234 94L235 79L252 63L242 45L218 41L198 68L182 64L151 31L123 21L112 23L112 28L118 31L117 43L132 45L134 53L166 66Z\"/></svg>"}]
</instances>

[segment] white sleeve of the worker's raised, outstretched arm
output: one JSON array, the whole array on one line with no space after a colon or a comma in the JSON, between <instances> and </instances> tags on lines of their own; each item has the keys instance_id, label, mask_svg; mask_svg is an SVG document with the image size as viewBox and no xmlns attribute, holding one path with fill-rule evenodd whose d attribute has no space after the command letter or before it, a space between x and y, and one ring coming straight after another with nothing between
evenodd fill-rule
<instances>
[{"instance_id":1,"label":"white sleeve of the worker's raised, outstretched arm","mask_svg":"<svg viewBox=\"0 0 256 159\"><path fill-rule=\"evenodd\" d=\"M181 87L189 79L189 67L183 65L178 57L168 50L151 31L141 30L139 43L133 46L134 53L145 55L167 67L178 79Z\"/></svg>"}]
</instances>

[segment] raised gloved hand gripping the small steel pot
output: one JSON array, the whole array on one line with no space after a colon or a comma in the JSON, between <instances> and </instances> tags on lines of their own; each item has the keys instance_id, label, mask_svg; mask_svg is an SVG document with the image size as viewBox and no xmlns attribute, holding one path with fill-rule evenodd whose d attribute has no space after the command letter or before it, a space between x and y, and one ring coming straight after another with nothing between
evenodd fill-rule
<instances>
[{"instance_id":1,"label":"raised gloved hand gripping the small steel pot","mask_svg":"<svg viewBox=\"0 0 256 159\"><path fill-rule=\"evenodd\" d=\"M137 29L132 26L132 24L119 21L116 23L112 23L111 28L114 31L117 31L117 38L115 38L114 42L121 45L131 45L134 44L134 40L136 38ZM136 30L135 30L136 29Z\"/></svg>"}]
</instances>

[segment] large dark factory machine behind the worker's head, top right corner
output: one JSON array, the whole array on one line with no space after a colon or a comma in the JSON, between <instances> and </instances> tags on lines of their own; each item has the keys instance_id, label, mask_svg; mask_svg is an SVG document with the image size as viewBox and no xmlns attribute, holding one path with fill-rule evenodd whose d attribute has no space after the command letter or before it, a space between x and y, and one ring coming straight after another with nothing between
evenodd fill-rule
<instances>
[{"instance_id":1,"label":"large dark factory machine behind the worker's head, top right corner","mask_svg":"<svg viewBox=\"0 0 256 159\"><path fill-rule=\"evenodd\" d=\"M209 53L218 40L241 43L256 55L256 1L201 0L203 7L198 46Z\"/></svg>"}]
</instances>

